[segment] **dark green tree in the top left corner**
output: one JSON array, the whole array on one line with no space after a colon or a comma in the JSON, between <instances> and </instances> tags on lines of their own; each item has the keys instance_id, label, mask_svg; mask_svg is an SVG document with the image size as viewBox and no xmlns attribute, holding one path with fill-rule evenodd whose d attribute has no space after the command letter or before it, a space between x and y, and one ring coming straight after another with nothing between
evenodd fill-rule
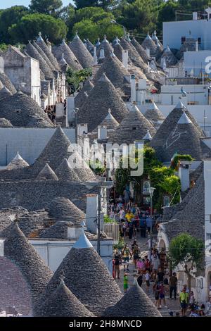
<instances>
[{"instance_id":1,"label":"dark green tree in the top left corner","mask_svg":"<svg viewBox=\"0 0 211 331\"><path fill-rule=\"evenodd\" d=\"M8 32L11 25L20 22L23 16L27 15L28 8L25 6L13 6L0 12L0 40L1 43L13 43Z\"/></svg>"}]
</instances>

